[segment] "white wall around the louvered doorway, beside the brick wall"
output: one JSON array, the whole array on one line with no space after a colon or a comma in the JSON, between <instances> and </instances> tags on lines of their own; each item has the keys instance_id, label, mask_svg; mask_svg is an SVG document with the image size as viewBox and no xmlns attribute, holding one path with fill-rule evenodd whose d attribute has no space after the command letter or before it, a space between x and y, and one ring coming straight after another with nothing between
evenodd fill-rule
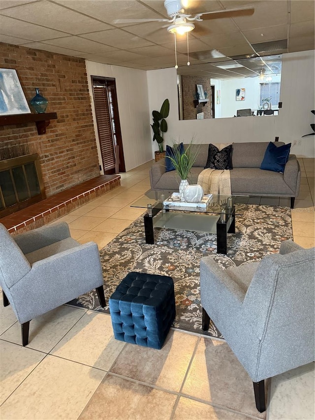
<instances>
[{"instance_id":1,"label":"white wall around the louvered doorway, beside the brick wall","mask_svg":"<svg viewBox=\"0 0 315 420\"><path fill-rule=\"evenodd\" d=\"M91 61L86 61L86 68L99 162L101 162L101 155L98 144L91 76L114 77L116 79L126 171L150 161L152 159L152 140L150 142L151 127L149 122L146 71Z\"/></svg>"}]
</instances>

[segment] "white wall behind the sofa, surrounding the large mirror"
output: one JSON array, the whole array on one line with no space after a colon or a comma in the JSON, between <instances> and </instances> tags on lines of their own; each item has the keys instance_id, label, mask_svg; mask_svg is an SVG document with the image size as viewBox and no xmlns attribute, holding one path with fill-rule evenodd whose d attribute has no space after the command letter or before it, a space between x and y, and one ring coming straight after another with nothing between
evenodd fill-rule
<instances>
[{"instance_id":1,"label":"white wall behind the sofa, surrounding the large mirror","mask_svg":"<svg viewBox=\"0 0 315 420\"><path fill-rule=\"evenodd\" d=\"M175 68L147 71L150 116L168 97L170 114L167 118L168 131L165 134L168 144L171 138L176 137L184 142L189 142L194 136L197 143L226 143L274 141L275 136L279 136L280 141L292 143L291 153L314 158L314 136L301 138L312 131L310 124L314 122L311 113L311 109L315 109L314 53L302 51L283 54L280 93L283 108L279 111L279 116L179 121ZM301 146L293 146L293 141L299 140ZM152 144L152 156L154 150L158 150L156 143Z\"/></svg>"}]
</instances>

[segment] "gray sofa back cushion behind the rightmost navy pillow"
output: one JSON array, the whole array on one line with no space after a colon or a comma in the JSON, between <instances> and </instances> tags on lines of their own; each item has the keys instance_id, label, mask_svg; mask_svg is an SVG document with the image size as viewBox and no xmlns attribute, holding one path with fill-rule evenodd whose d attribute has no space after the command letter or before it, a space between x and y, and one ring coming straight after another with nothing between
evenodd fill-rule
<instances>
[{"instance_id":1,"label":"gray sofa back cushion behind the rightmost navy pillow","mask_svg":"<svg viewBox=\"0 0 315 420\"><path fill-rule=\"evenodd\" d=\"M233 168L260 168L269 142L233 143ZM276 142L277 147L283 142Z\"/></svg>"}]
</instances>

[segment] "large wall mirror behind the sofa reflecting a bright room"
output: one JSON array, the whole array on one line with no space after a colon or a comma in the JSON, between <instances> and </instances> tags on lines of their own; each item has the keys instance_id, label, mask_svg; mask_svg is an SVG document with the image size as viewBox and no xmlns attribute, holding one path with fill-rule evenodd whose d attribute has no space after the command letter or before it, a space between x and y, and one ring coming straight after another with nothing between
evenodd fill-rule
<instances>
[{"instance_id":1,"label":"large wall mirror behind the sofa reflecting a bright room","mask_svg":"<svg viewBox=\"0 0 315 420\"><path fill-rule=\"evenodd\" d=\"M204 119L238 115L270 118L279 114L281 54L220 60L177 69L180 120L198 119L197 114L201 112ZM208 94L207 101L196 97L200 85ZM237 95L239 92L244 92L244 95ZM251 112L238 112L244 109Z\"/></svg>"}]
</instances>

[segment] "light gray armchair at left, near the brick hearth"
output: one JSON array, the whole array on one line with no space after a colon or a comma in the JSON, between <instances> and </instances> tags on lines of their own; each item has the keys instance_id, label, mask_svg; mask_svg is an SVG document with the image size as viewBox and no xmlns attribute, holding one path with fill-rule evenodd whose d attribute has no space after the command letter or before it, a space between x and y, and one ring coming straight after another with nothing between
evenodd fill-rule
<instances>
[{"instance_id":1,"label":"light gray armchair at left, near the brick hearth","mask_svg":"<svg viewBox=\"0 0 315 420\"><path fill-rule=\"evenodd\" d=\"M0 224L0 286L21 323L22 344L30 320L96 289L105 306L102 268L95 242L80 245L66 223L11 236Z\"/></svg>"}]
</instances>

